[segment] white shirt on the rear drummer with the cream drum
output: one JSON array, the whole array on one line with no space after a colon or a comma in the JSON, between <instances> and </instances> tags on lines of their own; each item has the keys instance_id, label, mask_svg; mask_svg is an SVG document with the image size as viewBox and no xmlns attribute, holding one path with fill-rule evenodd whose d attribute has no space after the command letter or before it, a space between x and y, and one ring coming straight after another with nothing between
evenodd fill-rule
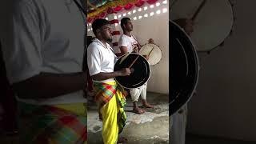
<instances>
[{"instance_id":1,"label":"white shirt on the rear drummer with the cream drum","mask_svg":"<svg viewBox=\"0 0 256 144\"><path fill-rule=\"evenodd\" d=\"M118 46L126 46L128 53L134 51L135 44L138 44L138 42L134 39L134 36L129 37L126 34L122 34L118 41Z\"/></svg>"}]
</instances>

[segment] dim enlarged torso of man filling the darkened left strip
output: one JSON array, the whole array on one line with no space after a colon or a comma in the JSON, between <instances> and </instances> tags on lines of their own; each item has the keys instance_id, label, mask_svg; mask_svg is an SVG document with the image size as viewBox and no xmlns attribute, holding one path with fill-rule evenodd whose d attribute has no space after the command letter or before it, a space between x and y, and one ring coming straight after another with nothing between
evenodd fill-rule
<instances>
[{"instance_id":1,"label":"dim enlarged torso of man filling the darkened left strip","mask_svg":"<svg viewBox=\"0 0 256 144\"><path fill-rule=\"evenodd\" d=\"M18 99L20 142L86 142L82 2L6 0L1 6L0 40Z\"/></svg>"}]
</instances>

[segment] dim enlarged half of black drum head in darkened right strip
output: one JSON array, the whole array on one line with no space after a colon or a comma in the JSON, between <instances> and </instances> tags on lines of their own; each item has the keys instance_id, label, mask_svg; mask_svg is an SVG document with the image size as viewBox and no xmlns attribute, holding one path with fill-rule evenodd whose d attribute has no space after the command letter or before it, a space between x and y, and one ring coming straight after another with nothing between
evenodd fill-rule
<instances>
[{"instance_id":1,"label":"dim enlarged half of black drum head in darkened right strip","mask_svg":"<svg viewBox=\"0 0 256 144\"><path fill-rule=\"evenodd\" d=\"M190 38L170 21L170 115L194 94L198 83L198 56Z\"/></svg>"}]
</instances>

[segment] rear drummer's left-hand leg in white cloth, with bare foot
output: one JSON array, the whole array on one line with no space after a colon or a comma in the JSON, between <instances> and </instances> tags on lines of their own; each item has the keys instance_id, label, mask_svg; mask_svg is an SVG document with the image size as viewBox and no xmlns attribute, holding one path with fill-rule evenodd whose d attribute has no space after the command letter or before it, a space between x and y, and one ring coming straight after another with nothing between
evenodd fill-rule
<instances>
[{"instance_id":1,"label":"rear drummer's left-hand leg in white cloth, with bare foot","mask_svg":"<svg viewBox=\"0 0 256 144\"><path fill-rule=\"evenodd\" d=\"M139 95L141 94L141 88L136 88L136 89L131 89L130 90L130 97L131 97L131 99L132 99L132 101L133 101L133 104L134 104L134 109L133 109L133 111L134 111L134 113L136 113L136 114L143 114L143 113L145 113L145 111L144 110L142 110L142 109L140 109L139 107L138 107L138 98L139 98Z\"/></svg>"}]
</instances>

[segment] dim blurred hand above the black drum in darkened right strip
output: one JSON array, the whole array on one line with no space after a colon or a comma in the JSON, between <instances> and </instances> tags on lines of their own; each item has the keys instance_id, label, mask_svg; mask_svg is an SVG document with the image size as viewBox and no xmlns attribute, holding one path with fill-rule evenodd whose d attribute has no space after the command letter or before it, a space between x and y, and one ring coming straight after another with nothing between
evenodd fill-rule
<instances>
[{"instance_id":1,"label":"dim blurred hand above the black drum in darkened right strip","mask_svg":"<svg viewBox=\"0 0 256 144\"><path fill-rule=\"evenodd\" d=\"M193 33L194 22L191 19L179 18L177 20L174 20L174 22L176 22L178 26L181 26L185 30L186 34L190 35L191 33Z\"/></svg>"}]
</instances>

